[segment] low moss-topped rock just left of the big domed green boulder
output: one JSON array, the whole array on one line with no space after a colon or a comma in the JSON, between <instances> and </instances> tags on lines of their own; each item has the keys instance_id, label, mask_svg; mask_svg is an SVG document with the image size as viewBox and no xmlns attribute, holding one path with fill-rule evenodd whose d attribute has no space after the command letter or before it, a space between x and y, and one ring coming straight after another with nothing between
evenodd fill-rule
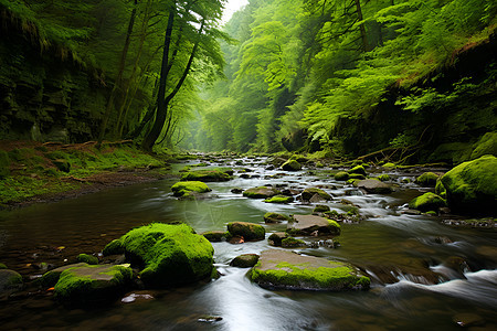
<instances>
[{"instance_id":1,"label":"low moss-topped rock just left of the big domed green boulder","mask_svg":"<svg viewBox=\"0 0 497 331\"><path fill-rule=\"evenodd\" d=\"M129 265L73 265L60 274L55 298L70 305L95 305L117 299L133 278Z\"/></svg>"}]
</instances>

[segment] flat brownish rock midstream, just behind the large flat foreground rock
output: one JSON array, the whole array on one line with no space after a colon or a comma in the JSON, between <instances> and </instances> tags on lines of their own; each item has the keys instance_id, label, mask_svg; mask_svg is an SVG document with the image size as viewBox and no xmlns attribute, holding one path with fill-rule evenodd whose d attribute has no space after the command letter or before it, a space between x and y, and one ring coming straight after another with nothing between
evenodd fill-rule
<instances>
[{"instance_id":1,"label":"flat brownish rock midstream, just behind the large flat foreground rock","mask_svg":"<svg viewBox=\"0 0 497 331\"><path fill-rule=\"evenodd\" d=\"M331 234L340 235L340 225L331 220L315 215L294 215L287 229L293 235Z\"/></svg>"}]
</instances>

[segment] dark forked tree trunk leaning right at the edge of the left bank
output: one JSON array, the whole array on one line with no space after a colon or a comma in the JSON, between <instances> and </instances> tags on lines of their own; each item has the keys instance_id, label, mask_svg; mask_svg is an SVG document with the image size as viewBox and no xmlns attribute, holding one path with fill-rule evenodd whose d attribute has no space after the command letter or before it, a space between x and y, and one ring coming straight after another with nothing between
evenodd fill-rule
<instances>
[{"instance_id":1,"label":"dark forked tree trunk leaning right at the edge of the left bank","mask_svg":"<svg viewBox=\"0 0 497 331\"><path fill-rule=\"evenodd\" d=\"M159 96L157 99L158 107L157 107L156 121L154 122L151 130L148 132L148 135L144 139L144 142L141 143L141 147L145 150L151 151L154 145L156 143L157 139L160 136L160 132L162 131L162 128L163 128L163 125L165 125L166 118L167 118L168 105L171 102L171 99L178 94L178 92L180 90L181 86L184 83L184 79L187 78L187 76L190 72L191 64L193 63L193 58L194 58L197 50L199 47L200 36L202 34L204 23L205 23L205 21L202 20L202 23L199 29L199 38L198 38L195 44L193 45L193 49L190 54L190 58L188 60L188 64L184 67L183 74L182 74L181 78L179 79L178 84L176 85L175 89L166 97L166 99L162 99L162 97L165 95L165 90L162 92L162 95L161 95L160 94L161 90L159 87ZM169 42L170 42L170 36L169 36ZM169 49L169 45L167 47ZM162 60L162 68L165 68L163 65L165 65L165 61ZM166 68L167 68L167 60L166 60ZM161 79L162 79L162 73L161 73Z\"/></svg>"}]
</instances>

